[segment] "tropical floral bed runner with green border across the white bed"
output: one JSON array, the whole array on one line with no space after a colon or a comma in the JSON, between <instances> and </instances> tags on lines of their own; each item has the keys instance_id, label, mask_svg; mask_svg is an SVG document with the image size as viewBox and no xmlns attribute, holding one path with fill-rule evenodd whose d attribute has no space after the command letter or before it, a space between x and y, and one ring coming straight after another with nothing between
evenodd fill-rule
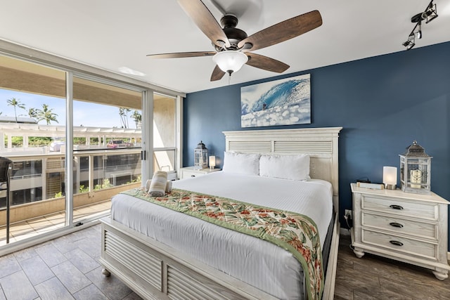
<instances>
[{"instance_id":1,"label":"tropical floral bed runner with green border across the white bed","mask_svg":"<svg viewBox=\"0 0 450 300\"><path fill-rule=\"evenodd\" d=\"M283 247L302 264L309 299L321 299L321 244L316 224L309 217L186 190L172 189L162 197L150 197L143 187L122 193Z\"/></svg>"}]
</instances>

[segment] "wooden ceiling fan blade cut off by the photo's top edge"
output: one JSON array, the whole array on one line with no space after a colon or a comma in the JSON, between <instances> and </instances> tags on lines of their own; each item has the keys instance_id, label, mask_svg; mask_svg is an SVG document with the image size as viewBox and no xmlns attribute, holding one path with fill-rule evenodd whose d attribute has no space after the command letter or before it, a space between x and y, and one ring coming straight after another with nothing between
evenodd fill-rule
<instances>
[{"instance_id":1,"label":"wooden ceiling fan blade cut off by the photo's top edge","mask_svg":"<svg viewBox=\"0 0 450 300\"><path fill-rule=\"evenodd\" d=\"M224 30L222 30L214 15L212 15L202 1L178 0L178 4L191 17L198 28L212 41L212 44L222 46L222 43L219 41L224 41L226 47L230 46Z\"/></svg>"}]
</instances>

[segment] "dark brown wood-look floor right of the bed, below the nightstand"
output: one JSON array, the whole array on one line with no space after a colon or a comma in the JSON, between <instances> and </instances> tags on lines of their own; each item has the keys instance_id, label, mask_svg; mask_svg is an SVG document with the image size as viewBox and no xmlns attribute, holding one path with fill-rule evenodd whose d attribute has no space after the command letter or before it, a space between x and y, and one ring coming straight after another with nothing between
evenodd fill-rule
<instances>
[{"instance_id":1,"label":"dark brown wood-look floor right of the bed, below the nightstand","mask_svg":"<svg viewBox=\"0 0 450 300\"><path fill-rule=\"evenodd\" d=\"M450 279L437 280L426 268L365 254L358 259L340 235L335 299L450 299Z\"/></svg>"}]
</instances>

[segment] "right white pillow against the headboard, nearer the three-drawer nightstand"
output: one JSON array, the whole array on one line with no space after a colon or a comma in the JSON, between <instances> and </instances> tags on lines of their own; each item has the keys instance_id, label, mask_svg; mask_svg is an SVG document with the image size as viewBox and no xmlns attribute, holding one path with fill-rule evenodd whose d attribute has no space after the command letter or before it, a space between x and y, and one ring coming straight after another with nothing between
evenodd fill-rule
<instances>
[{"instance_id":1,"label":"right white pillow against the headboard, nearer the three-drawer nightstand","mask_svg":"<svg viewBox=\"0 0 450 300\"><path fill-rule=\"evenodd\" d=\"M259 175L304 181L309 177L309 155L262 155Z\"/></svg>"}]
</instances>

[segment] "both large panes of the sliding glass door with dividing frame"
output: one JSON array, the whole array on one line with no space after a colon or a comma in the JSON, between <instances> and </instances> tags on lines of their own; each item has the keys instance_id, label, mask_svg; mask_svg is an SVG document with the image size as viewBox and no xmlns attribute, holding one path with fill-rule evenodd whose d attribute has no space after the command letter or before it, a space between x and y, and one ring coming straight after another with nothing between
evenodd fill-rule
<instances>
[{"instance_id":1,"label":"both large panes of the sliding glass door with dividing frame","mask_svg":"<svg viewBox=\"0 0 450 300\"><path fill-rule=\"evenodd\" d=\"M106 215L113 195L141 185L142 98L0 56L0 157L13 162L0 183L0 247Z\"/></svg>"}]
</instances>

